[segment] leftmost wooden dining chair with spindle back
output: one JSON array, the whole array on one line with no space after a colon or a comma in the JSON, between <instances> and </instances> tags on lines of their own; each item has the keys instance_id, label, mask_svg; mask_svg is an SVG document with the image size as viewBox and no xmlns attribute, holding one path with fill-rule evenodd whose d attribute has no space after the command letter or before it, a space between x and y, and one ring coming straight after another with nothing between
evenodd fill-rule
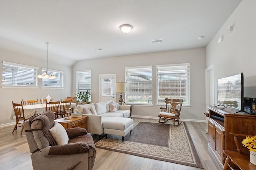
<instances>
[{"instance_id":1,"label":"leftmost wooden dining chair with spindle back","mask_svg":"<svg viewBox=\"0 0 256 170\"><path fill-rule=\"evenodd\" d=\"M13 103L12 101L12 106L16 116L16 124L14 126L12 133L14 133L14 131L17 130L17 127L22 127L20 131L20 135L22 135L23 128L24 128L23 122L26 121L22 102L20 102L20 104L17 104L17 103ZM22 121L22 123L19 123L19 121ZM20 126L18 126L18 124L20 124Z\"/></svg>"}]
</instances>

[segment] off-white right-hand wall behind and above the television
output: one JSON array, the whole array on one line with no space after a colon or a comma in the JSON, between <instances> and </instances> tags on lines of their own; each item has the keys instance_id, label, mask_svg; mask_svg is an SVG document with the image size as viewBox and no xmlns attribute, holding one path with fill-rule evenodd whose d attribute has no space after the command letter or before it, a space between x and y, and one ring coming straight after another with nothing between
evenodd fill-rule
<instances>
[{"instance_id":1,"label":"off-white right-hand wall behind and above the television","mask_svg":"<svg viewBox=\"0 0 256 170\"><path fill-rule=\"evenodd\" d=\"M228 27L234 31L228 33ZM218 39L223 41L218 44ZM256 1L243 0L206 47L206 67L214 64L217 79L244 73L244 97L256 98Z\"/></svg>"}]
</instances>

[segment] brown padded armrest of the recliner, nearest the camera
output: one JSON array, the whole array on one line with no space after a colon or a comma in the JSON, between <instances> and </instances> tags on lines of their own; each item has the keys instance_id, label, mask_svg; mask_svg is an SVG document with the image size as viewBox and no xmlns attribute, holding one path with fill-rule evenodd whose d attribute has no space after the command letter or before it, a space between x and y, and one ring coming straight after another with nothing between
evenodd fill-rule
<instances>
[{"instance_id":1,"label":"brown padded armrest of the recliner, nearest the camera","mask_svg":"<svg viewBox=\"0 0 256 170\"><path fill-rule=\"evenodd\" d=\"M40 149L40 154L44 157L52 155L69 155L89 152L90 148L87 143L68 143L66 145L49 146Z\"/></svg>"}]
</instances>

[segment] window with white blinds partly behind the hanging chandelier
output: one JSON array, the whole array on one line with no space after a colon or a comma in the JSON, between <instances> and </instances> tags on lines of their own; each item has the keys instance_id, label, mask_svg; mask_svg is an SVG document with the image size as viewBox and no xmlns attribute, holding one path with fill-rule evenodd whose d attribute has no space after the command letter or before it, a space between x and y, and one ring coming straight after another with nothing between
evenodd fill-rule
<instances>
[{"instance_id":1,"label":"window with white blinds partly behind the hanging chandelier","mask_svg":"<svg viewBox=\"0 0 256 170\"><path fill-rule=\"evenodd\" d=\"M63 71L56 71L56 70L50 70L48 69L50 72L52 72L52 74L54 74L54 76L56 76L56 78L54 79L50 79L50 78L46 78L43 79L42 78L42 87L59 87L59 88L63 88L64 84L63 84ZM42 75L46 72L46 68L42 68Z\"/></svg>"}]
</instances>

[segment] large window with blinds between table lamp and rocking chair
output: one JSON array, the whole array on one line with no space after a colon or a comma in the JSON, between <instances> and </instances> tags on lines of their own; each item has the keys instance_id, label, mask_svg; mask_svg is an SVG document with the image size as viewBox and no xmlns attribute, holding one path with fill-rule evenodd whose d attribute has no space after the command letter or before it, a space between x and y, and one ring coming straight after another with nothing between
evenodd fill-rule
<instances>
[{"instance_id":1,"label":"large window with blinds between table lamp and rocking chair","mask_svg":"<svg viewBox=\"0 0 256 170\"><path fill-rule=\"evenodd\" d=\"M152 66L125 68L126 102L152 104Z\"/></svg>"}]
</instances>

